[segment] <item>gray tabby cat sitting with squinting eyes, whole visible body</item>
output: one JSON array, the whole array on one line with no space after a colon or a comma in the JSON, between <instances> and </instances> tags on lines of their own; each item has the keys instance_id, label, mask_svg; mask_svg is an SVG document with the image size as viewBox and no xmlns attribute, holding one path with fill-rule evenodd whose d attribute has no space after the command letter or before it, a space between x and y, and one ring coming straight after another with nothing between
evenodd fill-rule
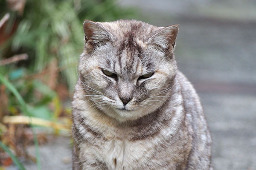
<instances>
[{"instance_id":1,"label":"gray tabby cat sitting with squinting eyes, whole visible body","mask_svg":"<svg viewBox=\"0 0 256 170\"><path fill-rule=\"evenodd\" d=\"M198 95L177 70L178 26L84 22L73 170L211 170Z\"/></svg>"}]
</instances>

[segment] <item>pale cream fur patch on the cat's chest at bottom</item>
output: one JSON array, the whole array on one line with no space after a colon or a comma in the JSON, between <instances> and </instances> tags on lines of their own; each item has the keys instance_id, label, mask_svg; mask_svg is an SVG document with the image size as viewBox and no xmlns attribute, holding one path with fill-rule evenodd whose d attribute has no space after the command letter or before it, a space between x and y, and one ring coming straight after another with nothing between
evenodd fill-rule
<instances>
[{"instance_id":1,"label":"pale cream fur patch on the cat's chest at bottom","mask_svg":"<svg viewBox=\"0 0 256 170\"><path fill-rule=\"evenodd\" d=\"M152 155L154 142L111 139L98 149L98 155L109 169L136 169L138 161L145 162Z\"/></svg>"}]
</instances>

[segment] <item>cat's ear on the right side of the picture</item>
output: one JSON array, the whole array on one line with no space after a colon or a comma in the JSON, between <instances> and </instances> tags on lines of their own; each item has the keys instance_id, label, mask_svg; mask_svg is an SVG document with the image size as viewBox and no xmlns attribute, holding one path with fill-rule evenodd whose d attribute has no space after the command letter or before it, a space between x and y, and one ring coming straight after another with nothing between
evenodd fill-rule
<instances>
[{"instance_id":1,"label":"cat's ear on the right side of the picture","mask_svg":"<svg viewBox=\"0 0 256 170\"><path fill-rule=\"evenodd\" d=\"M149 41L151 44L156 45L157 48L160 48L160 50L172 51L175 48L178 31L178 25L160 28L160 30L149 39Z\"/></svg>"}]
</instances>

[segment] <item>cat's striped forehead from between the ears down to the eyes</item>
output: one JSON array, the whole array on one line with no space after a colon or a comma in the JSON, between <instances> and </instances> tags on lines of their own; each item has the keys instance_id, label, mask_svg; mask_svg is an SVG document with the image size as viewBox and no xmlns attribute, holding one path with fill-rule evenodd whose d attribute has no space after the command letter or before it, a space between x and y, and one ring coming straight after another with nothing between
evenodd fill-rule
<instances>
[{"instance_id":1,"label":"cat's striped forehead from between the ears down to the eyes","mask_svg":"<svg viewBox=\"0 0 256 170\"><path fill-rule=\"evenodd\" d=\"M103 46L97 51L104 54L100 59L102 66L129 75L155 70L159 62L156 52L148 48L147 42L159 30L158 27L136 20L100 24L113 36L110 46Z\"/></svg>"}]
</instances>

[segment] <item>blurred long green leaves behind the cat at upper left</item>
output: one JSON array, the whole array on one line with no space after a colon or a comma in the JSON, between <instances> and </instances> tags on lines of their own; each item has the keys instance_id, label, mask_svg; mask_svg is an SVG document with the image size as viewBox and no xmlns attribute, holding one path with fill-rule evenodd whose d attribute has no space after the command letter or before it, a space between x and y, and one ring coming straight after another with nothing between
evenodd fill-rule
<instances>
[{"instance_id":1,"label":"blurred long green leaves behind the cat at upper left","mask_svg":"<svg viewBox=\"0 0 256 170\"><path fill-rule=\"evenodd\" d=\"M132 14L131 10L116 6L114 0L27 0L22 16L8 9L6 3L0 5L0 17L10 12L6 28L18 26L12 38L1 45L0 56L4 57L6 48L12 54L26 52L31 62L26 66L31 72L41 72L56 58L59 67L66 67L61 74L70 91L76 84L75 66L84 44L84 19L110 21L129 18Z\"/></svg>"}]
</instances>

